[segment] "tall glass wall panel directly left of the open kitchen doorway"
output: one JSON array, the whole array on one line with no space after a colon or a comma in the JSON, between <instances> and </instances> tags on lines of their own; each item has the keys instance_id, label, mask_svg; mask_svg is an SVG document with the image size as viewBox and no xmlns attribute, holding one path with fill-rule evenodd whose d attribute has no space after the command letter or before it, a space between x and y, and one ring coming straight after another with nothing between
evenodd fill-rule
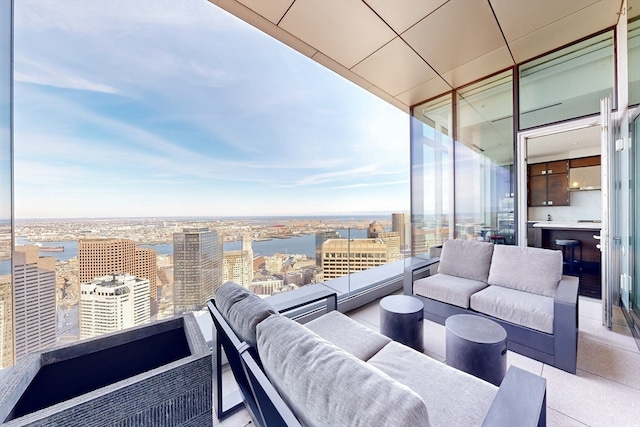
<instances>
[{"instance_id":1,"label":"tall glass wall panel directly left of the open kitchen doorway","mask_svg":"<svg viewBox=\"0 0 640 427\"><path fill-rule=\"evenodd\" d=\"M513 73L457 91L455 235L515 244Z\"/></svg>"}]
</instances>

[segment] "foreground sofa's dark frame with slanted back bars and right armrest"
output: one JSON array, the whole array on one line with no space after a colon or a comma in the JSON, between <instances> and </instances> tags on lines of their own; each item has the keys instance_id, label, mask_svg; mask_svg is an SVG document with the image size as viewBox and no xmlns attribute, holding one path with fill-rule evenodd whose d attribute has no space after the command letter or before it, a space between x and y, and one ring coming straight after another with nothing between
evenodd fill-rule
<instances>
[{"instance_id":1,"label":"foreground sofa's dark frame with slanted back bars and right armrest","mask_svg":"<svg viewBox=\"0 0 640 427\"><path fill-rule=\"evenodd\" d=\"M327 311L336 309L333 300L327 300ZM218 419L224 419L243 405L257 426L280 427L301 426L291 409L271 384L260 359L251 346L240 341L220 311L215 300L207 301L216 331L216 391ZM297 308L292 307L292 308ZM222 350L233 372L243 401L232 407L223 407L222 396ZM533 381L535 380L535 381ZM546 426L546 382L530 373L511 367L500 385L482 425L537 425ZM536 424L523 424L524 420L537 420Z\"/></svg>"}]
</instances>

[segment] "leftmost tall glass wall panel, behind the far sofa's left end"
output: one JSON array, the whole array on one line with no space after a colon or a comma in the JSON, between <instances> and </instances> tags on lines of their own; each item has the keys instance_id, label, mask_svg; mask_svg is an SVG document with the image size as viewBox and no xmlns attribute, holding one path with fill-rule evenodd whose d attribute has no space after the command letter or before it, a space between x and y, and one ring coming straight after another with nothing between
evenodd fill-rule
<instances>
[{"instance_id":1,"label":"leftmost tall glass wall panel, behind the far sofa's left end","mask_svg":"<svg viewBox=\"0 0 640 427\"><path fill-rule=\"evenodd\" d=\"M413 108L411 116L411 239L414 256L453 237L452 96ZM433 252L432 252L433 253Z\"/></svg>"}]
</instances>

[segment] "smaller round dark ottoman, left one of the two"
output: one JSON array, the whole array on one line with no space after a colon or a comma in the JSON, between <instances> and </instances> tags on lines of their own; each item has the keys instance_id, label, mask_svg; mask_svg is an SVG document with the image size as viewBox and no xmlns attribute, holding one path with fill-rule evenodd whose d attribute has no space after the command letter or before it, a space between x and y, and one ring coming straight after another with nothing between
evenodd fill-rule
<instances>
[{"instance_id":1,"label":"smaller round dark ottoman, left one of the two","mask_svg":"<svg viewBox=\"0 0 640 427\"><path fill-rule=\"evenodd\" d=\"M424 351L424 304L409 295L380 300L380 333L419 352Z\"/></svg>"}]
</instances>

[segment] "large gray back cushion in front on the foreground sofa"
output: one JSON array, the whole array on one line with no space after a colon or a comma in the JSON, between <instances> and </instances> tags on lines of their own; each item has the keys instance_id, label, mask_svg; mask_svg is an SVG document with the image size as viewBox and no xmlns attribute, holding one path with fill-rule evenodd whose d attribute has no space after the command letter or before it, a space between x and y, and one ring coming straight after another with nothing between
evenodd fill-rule
<instances>
[{"instance_id":1,"label":"large gray back cushion in front on the foreground sofa","mask_svg":"<svg viewBox=\"0 0 640 427\"><path fill-rule=\"evenodd\" d=\"M429 425L415 392L304 326L270 316L257 332L265 372L303 425Z\"/></svg>"}]
</instances>

